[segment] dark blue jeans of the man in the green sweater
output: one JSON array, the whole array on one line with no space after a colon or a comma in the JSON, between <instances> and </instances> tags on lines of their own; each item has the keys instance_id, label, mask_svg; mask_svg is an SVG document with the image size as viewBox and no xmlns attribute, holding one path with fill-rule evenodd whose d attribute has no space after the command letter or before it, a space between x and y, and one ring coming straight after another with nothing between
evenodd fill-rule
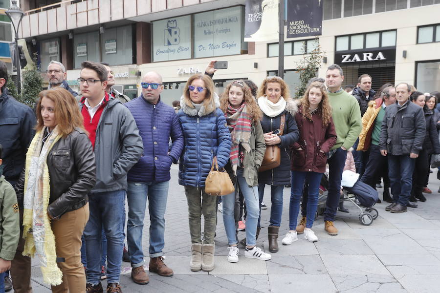
<instances>
[{"instance_id":1,"label":"dark blue jeans of the man in the green sweater","mask_svg":"<svg viewBox=\"0 0 440 293\"><path fill-rule=\"evenodd\" d=\"M342 148L336 149L334 154L327 160L329 163L329 193L327 195L324 221L334 221L341 197L342 171L345 166L347 151ZM314 216L314 215L313 215Z\"/></svg>"}]
</instances>

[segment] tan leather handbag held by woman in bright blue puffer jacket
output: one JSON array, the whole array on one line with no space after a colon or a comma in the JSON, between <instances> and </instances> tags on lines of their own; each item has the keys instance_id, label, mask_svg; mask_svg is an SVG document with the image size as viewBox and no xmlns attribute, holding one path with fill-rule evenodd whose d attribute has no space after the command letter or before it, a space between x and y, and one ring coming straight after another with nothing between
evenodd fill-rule
<instances>
[{"instance_id":1,"label":"tan leather handbag held by woman in bright blue puffer jacket","mask_svg":"<svg viewBox=\"0 0 440 293\"><path fill-rule=\"evenodd\" d=\"M214 167L216 168L215 170ZM206 177L205 180L205 193L214 196L221 196L230 194L234 191L234 184L232 184L228 172L226 172L224 168L219 171L217 157L214 157L212 159L211 171L209 171L208 177Z\"/></svg>"}]
</instances>

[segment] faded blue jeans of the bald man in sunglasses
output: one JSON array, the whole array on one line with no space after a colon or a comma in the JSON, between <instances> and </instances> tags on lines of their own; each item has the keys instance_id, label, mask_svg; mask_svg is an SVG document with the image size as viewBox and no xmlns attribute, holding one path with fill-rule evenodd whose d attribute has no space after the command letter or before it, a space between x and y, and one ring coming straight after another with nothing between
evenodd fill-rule
<instances>
[{"instance_id":1,"label":"faded blue jeans of the bald man in sunglasses","mask_svg":"<svg viewBox=\"0 0 440 293\"><path fill-rule=\"evenodd\" d=\"M127 201L129 219L127 222L127 244L133 268L144 265L142 251L142 230L144 228L145 208L148 198L150 211L150 257L163 255L165 246L165 209L167 207L168 187L165 182L128 182Z\"/></svg>"}]
</instances>

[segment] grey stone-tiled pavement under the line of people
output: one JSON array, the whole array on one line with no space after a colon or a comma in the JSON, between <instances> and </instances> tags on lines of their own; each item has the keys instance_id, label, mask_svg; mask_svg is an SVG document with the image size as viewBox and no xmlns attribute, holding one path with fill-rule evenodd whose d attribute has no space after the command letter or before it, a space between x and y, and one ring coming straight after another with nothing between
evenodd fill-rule
<instances>
[{"instance_id":1,"label":"grey stone-tiled pavement under the line of people","mask_svg":"<svg viewBox=\"0 0 440 293\"><path fill-rule=\"evenodd\" d=\"M267 262L244 258L227 262L227 239L221 213L216 237L214 271L189 270L190 237L187 204L183 187L177 183L177 169L173 165L172 182L168 195L165 231L165 262L175 274L161 277L150 274L148 285L136 285L130 279L130 265L123 263L121 285L124 292L385 292L434 293L440 292L440 181L436 171L431 174L429 187L433 194L418 209L402 214L384 210L377 204L379 217L371 226L358 220L358 210L350 203L349 214L338 212L335 226L339 235L329 236L319 217L313 226L319 240L305 241L302 236L290 246L281 245L288 230L289 188L284 191L283 222L280 229L280 251ZM269 188L266 187L262 211L262 226L267 227L270 212ZM144 226L144 252L148 264L149 217ZM239 238L244 232L239 233ZM257 245L267 248L267 229L262 229ZM35 293L50 292L42 282L38 260L33 260L32 280ZM103 282L105 285L105 281Z\"/></svg>"}]
</instances>

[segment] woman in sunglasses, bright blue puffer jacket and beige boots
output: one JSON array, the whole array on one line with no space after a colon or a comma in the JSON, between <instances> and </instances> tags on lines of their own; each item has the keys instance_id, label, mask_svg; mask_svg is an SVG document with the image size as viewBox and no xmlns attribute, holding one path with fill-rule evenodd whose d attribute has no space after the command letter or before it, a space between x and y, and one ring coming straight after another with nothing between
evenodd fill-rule
<instances>
[{"instance_id":1,"label":"woman in sunglasses, bright blue puffer jacket and beige boots","mask_svg":"<svg viewBox=\"0 0 440 293\"><path fill-rule=\"evenodd\" d=\"M204 192L205 179L217 156L219 167L226 165L231 149L231 136L219 97L207 75L196 74L188 79L177 113L185 137L180 155L179 184L185 187L191 234L191 271L214 269L214 233L217 224L217 196ZM201 240L200 217L204 232Z\"/></svg>"}]
</instances>

